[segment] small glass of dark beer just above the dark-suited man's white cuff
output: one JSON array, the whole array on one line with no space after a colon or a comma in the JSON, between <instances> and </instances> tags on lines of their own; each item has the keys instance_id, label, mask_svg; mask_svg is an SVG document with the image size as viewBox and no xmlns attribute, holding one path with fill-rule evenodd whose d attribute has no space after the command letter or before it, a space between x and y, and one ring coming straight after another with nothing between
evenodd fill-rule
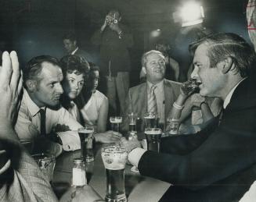
<instances>
[{"instance_id":1,"label":"small glass of dark beer just above the dark-suited man's white cuff","mask_svg":"<svg viewBox=\"0 0 256 202\"><path fill-rule=\"evenodd\" d=\"M146 128L146 146L150 151L160 151L160 138L162 135L162 130L160 128Z\"/></svg>"}]
</instances>

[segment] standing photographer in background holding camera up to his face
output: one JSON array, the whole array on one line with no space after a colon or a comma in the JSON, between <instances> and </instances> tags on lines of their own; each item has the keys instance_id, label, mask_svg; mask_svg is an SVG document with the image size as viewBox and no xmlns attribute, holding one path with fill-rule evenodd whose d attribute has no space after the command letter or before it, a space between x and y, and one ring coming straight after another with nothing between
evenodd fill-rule
<instances>
[{"instance_id":1,"label":"standing photographer in background holding camera up to his face","mask_svg":"<svg viewBox=\"0 0 256 202\"><path fill-rule=\"evenodd\" d=\"M124 99L129 88L131 60L128 48L132 47L133 39L128 27L120 22L120 12L110 10L103 25L92 36L92 43L100 45L99 67L106 79L106 85L103 86L106 86L110 115L124 114Z\"/></svg>"}]
</instances>

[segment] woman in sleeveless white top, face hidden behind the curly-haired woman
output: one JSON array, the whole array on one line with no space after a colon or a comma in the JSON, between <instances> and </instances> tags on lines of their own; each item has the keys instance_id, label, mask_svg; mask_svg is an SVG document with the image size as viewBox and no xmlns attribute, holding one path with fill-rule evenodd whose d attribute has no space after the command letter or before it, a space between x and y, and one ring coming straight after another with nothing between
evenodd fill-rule
<instances>
[{"instance_id":1,"label":"woman in sleeveless white top, face hidden behind the curly-haired woman","mask_svg":"<svg viewBox=\"0 0 256 202\"><path fill-rule=\"evenodd\" d=\"M107 97L96 90L99 84L99 67L93 63L88 73L88 80L85 85L83 99L78 101L78 108L81 112L85 126L94 126L98 133L106 131L106 119L109 102Z\"/></svg>"}]
</instances>

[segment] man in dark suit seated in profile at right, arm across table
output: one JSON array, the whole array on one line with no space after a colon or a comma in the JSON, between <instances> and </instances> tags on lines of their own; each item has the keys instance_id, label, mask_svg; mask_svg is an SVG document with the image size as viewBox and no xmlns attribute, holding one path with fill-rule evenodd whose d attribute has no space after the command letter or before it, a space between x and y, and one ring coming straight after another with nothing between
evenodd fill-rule
<instances>
[{"instance_id":1,"label":"man in dark suit seated in profile at right, arm across table","mask_svg":"<svg viewBox=\"0 0 256 202\"><path fill-rule=\"evenodd\" d=\"M167 137L161 152L134 148L141 175L170 186L161 201L237 201L256 178L256 55L236 34L214 34L191 46L200 94L224 101L222 118L194 135Z\"/></svg>"}]
</instances>

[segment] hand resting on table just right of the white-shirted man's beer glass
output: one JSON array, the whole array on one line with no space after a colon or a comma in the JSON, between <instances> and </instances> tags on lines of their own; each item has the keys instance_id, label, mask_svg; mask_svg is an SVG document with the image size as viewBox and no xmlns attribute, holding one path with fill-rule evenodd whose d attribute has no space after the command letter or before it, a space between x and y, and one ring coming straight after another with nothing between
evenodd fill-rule
<instances>
[{"instance_id":1,"label":"hand resting on table just right of the white-shirted man's beer glass","mask_svg":"<svg viewBox=\"0 0 256 202\"><path fill-rule=\"evenodd\" d=\"M121 139L122 134L109 130L109 131L106 131L105 133L96 133L94 137L96 142L115 143Z\"/></svg>"}]
</instances>

